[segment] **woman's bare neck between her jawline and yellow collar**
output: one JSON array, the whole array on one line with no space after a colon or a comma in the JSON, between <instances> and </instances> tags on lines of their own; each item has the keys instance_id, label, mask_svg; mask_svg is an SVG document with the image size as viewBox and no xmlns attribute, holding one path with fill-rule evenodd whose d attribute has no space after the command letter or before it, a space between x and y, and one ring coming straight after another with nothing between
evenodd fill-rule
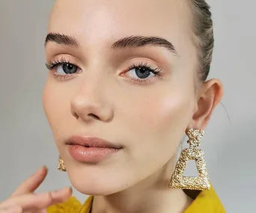
<instances>
[{"instance_id":1,"label":"woman's bare neck between her jawline and yellow collar","mask_svg":"<svg viewBox=\"0 0 256 213\"><path fill-rule=\"evenodd\" d=\"M165 167L124 191L95 196L92 213L181 213L192 203L182 190L168 188L174 160Z\"/></svg>"}]
</instances>

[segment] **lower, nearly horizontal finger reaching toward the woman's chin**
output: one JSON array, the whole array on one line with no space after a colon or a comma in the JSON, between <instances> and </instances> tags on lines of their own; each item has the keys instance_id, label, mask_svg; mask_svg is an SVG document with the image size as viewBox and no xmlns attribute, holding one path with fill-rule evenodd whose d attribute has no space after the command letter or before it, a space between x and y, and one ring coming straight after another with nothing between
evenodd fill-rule
<instances>
[{"instance_id":1,"label":"lower, nearly horizontal finger reaching toward the woman's chin","mask_svg":"<svg viewBox=\"0 0 256 213\"><path fill-rule=\"evenodd\" d=\"M53 204L65 202L71 196L71 188L62 188L59 191L40 194L23 194L1 203L0 208L16 204L22 207L23 212L31 210L35 212L35 210L44 209Z\"/></svg>"}]
</instances>

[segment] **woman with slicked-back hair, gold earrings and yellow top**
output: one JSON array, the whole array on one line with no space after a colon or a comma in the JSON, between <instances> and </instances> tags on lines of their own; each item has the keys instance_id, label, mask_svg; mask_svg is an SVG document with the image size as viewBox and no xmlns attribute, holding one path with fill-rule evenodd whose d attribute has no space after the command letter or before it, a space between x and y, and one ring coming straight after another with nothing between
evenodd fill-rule
<instances>
[{"instance_id":1,"label":"woman with slicked-back hair, gold earrings and yellow top","mask_svg":"<svg viewBox=\"0 0 256 213\"><path fill-rule=\"evenodd\" d=\"M70 188L33 194L46 167L1 212L225 212L210 185L203 129L222 98L206 81L213 24L204 0L57 0L46 37L43 106ZM176 164L184 133L189 149ZM183 177L195 160L198 178Z\"/></svg>"}]
</instances>

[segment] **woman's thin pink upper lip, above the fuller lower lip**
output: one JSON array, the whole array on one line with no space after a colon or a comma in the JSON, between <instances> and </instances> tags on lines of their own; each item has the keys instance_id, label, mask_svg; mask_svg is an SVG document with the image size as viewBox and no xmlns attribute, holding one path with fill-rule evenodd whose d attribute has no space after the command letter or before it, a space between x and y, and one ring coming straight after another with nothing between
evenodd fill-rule
<instances>
[{"instance_id":1,"label":"woman's thin pink upper lip, above the fuller lower lip","mask_svg":"<svg viewBox=\"0 0 256 213\"><path fill-rule=\"evenodd\" d=\"M80 146L112 148L112 149L122 148L122 146L117 145L115 143L111 143L102 138L84 137L84 136L78 136L78 135L68 138L67 145L80 145Z\"/></svg>"}]
</instances>

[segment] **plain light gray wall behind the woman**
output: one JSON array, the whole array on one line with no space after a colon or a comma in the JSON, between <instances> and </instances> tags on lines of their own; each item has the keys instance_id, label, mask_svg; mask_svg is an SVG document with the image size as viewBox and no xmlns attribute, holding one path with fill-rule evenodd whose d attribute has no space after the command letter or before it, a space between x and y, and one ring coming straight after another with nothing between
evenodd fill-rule
<instances>
[{"instance_id":1,"label":"plain light gray wall behind the woman","mask_svg":"<svg viewBox=\"0 0 256 213\"><path fill-rule=\"evenodd\" d=\"M43 164L49 176L39 191L69 185L67 174L56 169L58 152L41 102L47 74L43 42L52 3L0 0L0 200ZM256 2L210 4L216 37L210 77L222 80L225 96L202 148L227 212L255 212ZM85 200L85 195L74 194Z\"/></svg>"}]
</instances>

